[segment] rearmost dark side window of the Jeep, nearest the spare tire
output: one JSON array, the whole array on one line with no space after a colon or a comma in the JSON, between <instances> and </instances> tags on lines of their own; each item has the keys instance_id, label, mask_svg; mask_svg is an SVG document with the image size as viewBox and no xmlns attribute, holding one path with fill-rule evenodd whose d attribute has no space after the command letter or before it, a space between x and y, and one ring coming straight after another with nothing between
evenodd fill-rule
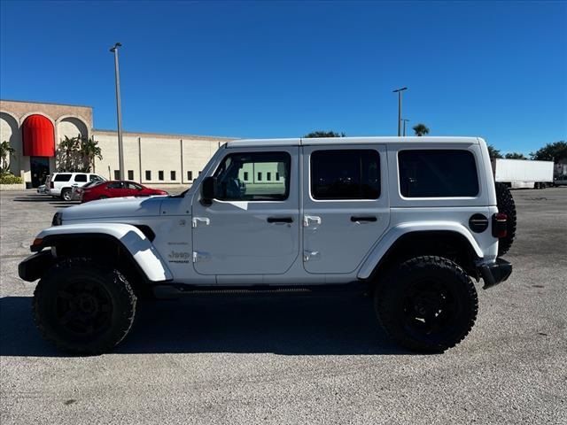
<instances>
[{"instance_id":1,"label":"rearmost dark side window of the Jeep, nearest the spare tire","mask_svg":"<svg viewBox=\"0 0 567 425\"><path fill-rule=\"evenodd\" d=\"M398 153L402 197L476 197L478 174L470 151Z\"/></svg>"}]
</instances>

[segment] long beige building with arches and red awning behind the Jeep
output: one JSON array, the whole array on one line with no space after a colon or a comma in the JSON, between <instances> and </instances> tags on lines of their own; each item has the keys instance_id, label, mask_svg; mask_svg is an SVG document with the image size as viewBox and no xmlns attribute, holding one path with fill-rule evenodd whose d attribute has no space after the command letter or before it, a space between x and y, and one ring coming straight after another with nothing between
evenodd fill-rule
<instances>
[{"instance_id":1,"label":"long beige building with arches and red awning behind the Jeep","mask_svg":"<svg viewBox=\"0 0 567 425\"><path fill-rule=\"evenodd\" d=\"M119 177L118 137L115 131L92 126L92 108L0 100L0 142L15 150L10 171L27 187L43 184L42 177L59 170L58 145L67 137L93 137L102 151L94 172L106 179ZM197 178L214 152L228 137L158 135L124 132L125 178L143 184L188 184Z\"/></svg>"}]
</instances>

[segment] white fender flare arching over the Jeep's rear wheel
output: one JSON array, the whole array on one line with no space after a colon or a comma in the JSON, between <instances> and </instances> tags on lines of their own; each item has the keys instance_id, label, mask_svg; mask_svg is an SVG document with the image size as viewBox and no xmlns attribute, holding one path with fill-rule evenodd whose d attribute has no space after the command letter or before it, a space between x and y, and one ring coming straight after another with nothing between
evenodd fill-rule
<instances>
[{"instance_id":1,"label":"white fender flare arching over the Jeep's rear wheel","mask_svg":"<svg viewBox=\"0 0 567 425\"><path fill-rule=\"evenodd\" d=\"M484 257L483 251L478 246L475 238L470 235L470 231L462 226L460 223L451 223L447 221L428 221L428 222L411 222L411 223L401 223L393 228L391 228L374 246L372 251L370 251L368 257L362 263L361 268L357 274L357 277L361 280L368 279L374 269L377 267L380 260L384 257L384 254L390 249L390 247L396 243L396 241L404 235L413 232L431 232L431 231L445 231L454 232L460 236L464 236L466 240L470 243L471 248L477 254L477 257L482 259Z\"/></svg>"}]
</instances>

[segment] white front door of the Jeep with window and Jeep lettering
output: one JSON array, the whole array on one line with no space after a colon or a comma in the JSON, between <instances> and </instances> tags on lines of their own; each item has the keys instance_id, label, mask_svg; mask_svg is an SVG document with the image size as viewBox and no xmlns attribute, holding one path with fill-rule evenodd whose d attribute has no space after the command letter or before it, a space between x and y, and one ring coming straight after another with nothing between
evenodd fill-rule
<instances>
[{"instance_id":1,"label":"white front door of the Jeep with window and Jeep lettering","mask_svg":"<svg viewBox=\"0 0 567 425\"><path fill-rule=\"evenodd\" d=\"M212 205L192 205L197 273L285 273L299 256L299 147L227 149L214 176Z\"/></svg>"}]
</instances>

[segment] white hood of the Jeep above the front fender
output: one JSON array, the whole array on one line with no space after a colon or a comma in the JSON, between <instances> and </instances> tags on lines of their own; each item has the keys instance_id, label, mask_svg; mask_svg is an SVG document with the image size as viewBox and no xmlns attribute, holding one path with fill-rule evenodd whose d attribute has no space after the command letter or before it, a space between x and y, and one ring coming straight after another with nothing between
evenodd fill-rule
<instances>
[{"instance_id":1,"label":"white hood of the Jeep above the front fender","mask_svg":"<svg viewBox=\"0 0 567 425\"><path fill-rule=\"evenodd\" d=\"M64 221L64 224L66 224L66 220L159 216L159 207L165 198L166 197L111 197L91 201L82 205L70 206L59 210L59 213L61 213L61 219Z\"/></svg>"}]
</instances>

